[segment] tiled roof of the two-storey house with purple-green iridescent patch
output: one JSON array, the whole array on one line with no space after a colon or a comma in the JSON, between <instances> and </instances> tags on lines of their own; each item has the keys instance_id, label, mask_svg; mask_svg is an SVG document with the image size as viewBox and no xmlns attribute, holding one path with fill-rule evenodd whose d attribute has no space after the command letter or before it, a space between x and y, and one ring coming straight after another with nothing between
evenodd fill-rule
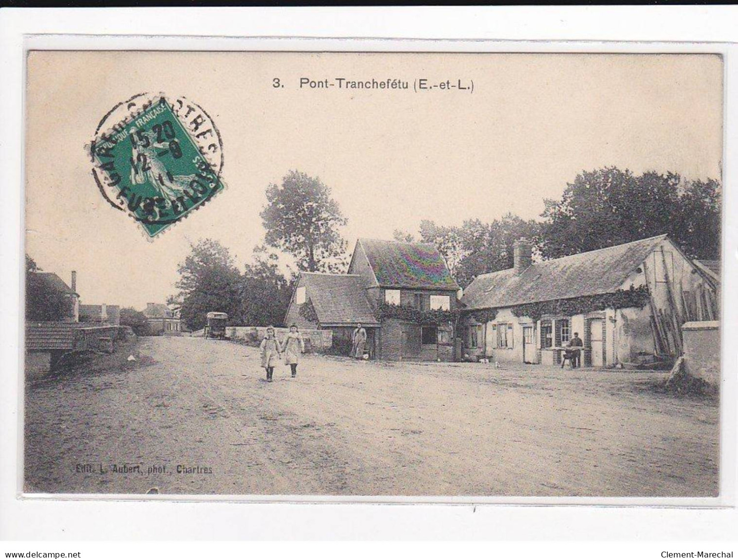
<instances>
[{"instance_id":1,"label":"tiled roof of the two-storey house with purple-green iridescent patch","mask_svg":"<svg viewBox=\"0 0 738 559\"><path fill-rule=\"evenodd\" d=\"M383 287L458 289L434 245L359 239L377 282Z\"/></svg>"}]
</instances>

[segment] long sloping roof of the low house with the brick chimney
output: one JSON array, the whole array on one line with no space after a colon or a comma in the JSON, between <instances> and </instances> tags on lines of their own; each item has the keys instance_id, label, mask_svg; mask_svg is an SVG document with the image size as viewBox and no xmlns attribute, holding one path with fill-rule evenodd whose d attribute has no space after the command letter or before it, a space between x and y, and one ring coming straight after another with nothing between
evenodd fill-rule
<instances>
[{"instance_id":1,"label":"long sloping roof of the low house with the brick chimney","mask_svg":"<svg viewBox=\"0 0 738 559\"><path fill-rule=\"evenodd\" d=\"M483 274L461 302L469 309L501 308L525 303L612 293L666 239L650 237L532 264L520 276L513 268Z\"/></svg>"}]
</instances>

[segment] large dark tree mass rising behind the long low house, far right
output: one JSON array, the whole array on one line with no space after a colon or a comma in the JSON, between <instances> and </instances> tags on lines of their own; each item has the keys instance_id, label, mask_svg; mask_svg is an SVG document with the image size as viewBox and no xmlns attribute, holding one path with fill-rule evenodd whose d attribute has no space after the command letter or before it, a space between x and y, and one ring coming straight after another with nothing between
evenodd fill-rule
<instances>
[{"instance_id":1,"label":"large dark tree mass rising behind the long low house, far right","mask_svg":"<svg viewBox=\"0 0 738 559\"><path fill-rule=\"evenodd\" d=\"M583 171L561 200L545 200L539 249L545 258L669 235L690 257L720 254L720 184L684 183L676 173L605 167Z\"/></svg>"}]
</instances>

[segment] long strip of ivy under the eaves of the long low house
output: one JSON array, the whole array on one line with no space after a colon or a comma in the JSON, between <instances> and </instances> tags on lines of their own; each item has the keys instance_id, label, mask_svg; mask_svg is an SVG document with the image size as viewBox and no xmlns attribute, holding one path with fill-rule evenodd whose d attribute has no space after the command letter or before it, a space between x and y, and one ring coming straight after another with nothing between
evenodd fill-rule
<instances>
[{"instance_id":1,"label":"long strip of ivy under the eaves of the long low house","mask_svg":"<svg viewBox=\"0 0 738 559\"><path fill-rule=\"evenodd\" d=\"M605 310L606 308L644 308L649 296L648 288L645 285L640 285L637 288L631 285L630 289L618 289L613 293L590 295L576 299L526 303L525 305L516 305L511 310L515 316L528 316L534 321L538 321L541 316L546 314L574 316L596 310Z\"/></svg>"}]
</instances>

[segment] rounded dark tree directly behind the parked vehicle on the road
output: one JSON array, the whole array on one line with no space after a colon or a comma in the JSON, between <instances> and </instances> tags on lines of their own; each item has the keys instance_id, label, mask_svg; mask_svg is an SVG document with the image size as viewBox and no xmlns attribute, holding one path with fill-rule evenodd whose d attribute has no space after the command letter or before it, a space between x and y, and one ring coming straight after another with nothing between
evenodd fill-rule
<instances>
[{"instance_id":1,"label":"rounded dark tree directly behind the parked vehicle on the road","mask_svg":"<svg viewBox=\"0 0 738 559\"><path fill-rule=\"evenodd\" d=\"M241 323L241 274L228 249L217 240L203 239L190 245L180 263L176 299L182 305L182 321L191 330L207 323L207 313L228 313L231 324Z\"/></svg>"}]
</instances>

